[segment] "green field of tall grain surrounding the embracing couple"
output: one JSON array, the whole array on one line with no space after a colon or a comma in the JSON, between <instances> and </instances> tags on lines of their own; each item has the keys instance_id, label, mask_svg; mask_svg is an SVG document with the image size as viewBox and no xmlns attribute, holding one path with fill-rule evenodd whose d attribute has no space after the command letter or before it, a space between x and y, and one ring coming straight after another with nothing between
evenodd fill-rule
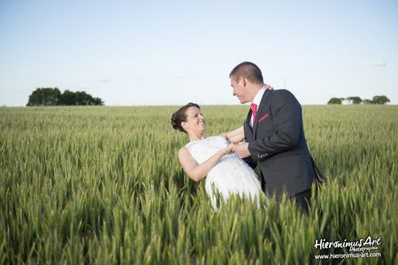
<instances>
[{"instance_id":1,"label":"green field of tall grain surrounding the embracing couple","mask_svg":"<svg viewBox=\"0 0 398 265\"><path fill-rule=\"evenodd\" d=\"M248 106L203 106L206 135ZM328 178L310 213L290 201L210 207L180 168L178 107L0 108L0 263L393 264L398 106L304 106L310 152ZM287 165L288 166L288 165ZM226 176L227 178L227 176ZM381 257L317 260L380 237Z\"/></svg>"}]
</instances>

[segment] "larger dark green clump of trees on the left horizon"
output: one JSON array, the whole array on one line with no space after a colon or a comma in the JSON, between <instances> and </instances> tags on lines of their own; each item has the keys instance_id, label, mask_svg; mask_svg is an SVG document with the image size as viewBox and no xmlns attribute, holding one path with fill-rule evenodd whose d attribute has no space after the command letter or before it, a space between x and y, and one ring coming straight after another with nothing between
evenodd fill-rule
<instances>
[{"instance_id":1,"label":"larger dark green clump of trees on the left horizon","mask_svg":"<svg viewBox=\"0 0 398 265\"><path fill-rule=\"evenodd\" d=\"M40 87L29 95L27 106L79 106L103 105L103 100L93 97L84 91L70 91L66 89L61 93L57 87Z\"/></svg>"}]
</instances>

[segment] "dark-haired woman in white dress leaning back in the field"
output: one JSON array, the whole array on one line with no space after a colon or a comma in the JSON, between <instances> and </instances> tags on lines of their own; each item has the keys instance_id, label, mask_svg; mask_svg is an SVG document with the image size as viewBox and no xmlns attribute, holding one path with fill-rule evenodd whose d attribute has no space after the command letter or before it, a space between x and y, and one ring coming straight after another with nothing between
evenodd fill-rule
<instances>
[{"instance_id":1,"label":"dark-haired woman in white dress leaning back in the field","mask_svg":"<svg viewBox=\"0 0 398 265\"><path fill-rule=\"evenodd\" d=\"M244 139L243 126L218 136L204 137L202 111L197 104L189 102L172 114L172 127L188 134L188 144L179 151L180 164L194 181L207 176L205 190L212 208L217 209L217 192L224 201L231 193L258 199L261 186L255 171L233 153L236 143ZM213 186L217 191L213 191Z\"/></svg>"}]
</instances>

